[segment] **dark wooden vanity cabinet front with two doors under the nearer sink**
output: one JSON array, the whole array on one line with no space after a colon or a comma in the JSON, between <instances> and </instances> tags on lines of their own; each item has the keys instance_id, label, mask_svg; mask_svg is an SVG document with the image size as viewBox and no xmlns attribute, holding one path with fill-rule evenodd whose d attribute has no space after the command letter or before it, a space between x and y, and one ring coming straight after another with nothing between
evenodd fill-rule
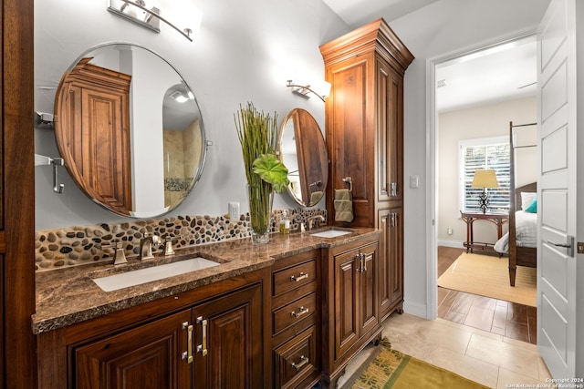
<instances>
[{"instance_id":1,"label":"dark wooden vanity cabinet front with two doors under the nearer sink","mask_svg":"<svg viewBox=\"0 0 584 389\"><path fill-rule=\"evenodd\" d=\"M41 333L39 382L112 389L266 387L266 273Z\"/></svg>"}]
</instances>

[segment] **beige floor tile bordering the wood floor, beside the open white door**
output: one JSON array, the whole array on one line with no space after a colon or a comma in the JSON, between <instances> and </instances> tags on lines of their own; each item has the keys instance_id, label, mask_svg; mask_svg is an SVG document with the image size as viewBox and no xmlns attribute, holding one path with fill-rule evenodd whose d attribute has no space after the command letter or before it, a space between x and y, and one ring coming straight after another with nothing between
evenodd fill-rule
<instances>
[{"instance_id":1,"label":"beige floor tile bordering the wood floor, beside the open white door","mask_svg":"<svg viewBox=\"0 0 584 389\"><path fill-rule=\"evenodd\" d=\"M484 336L473 334L466 355L486 363L493 363L516 374L539 379L537 352L529 351L511 343L497 342Z\"/></svg>"}]
</instances>

